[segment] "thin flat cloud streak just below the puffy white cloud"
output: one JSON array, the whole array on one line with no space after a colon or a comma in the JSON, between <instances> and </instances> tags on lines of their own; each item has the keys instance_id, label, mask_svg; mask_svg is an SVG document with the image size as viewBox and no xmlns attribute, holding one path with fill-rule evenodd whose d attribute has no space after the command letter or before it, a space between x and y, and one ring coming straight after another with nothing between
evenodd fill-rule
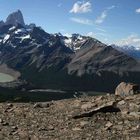
<instances>
[{"instance_id":1,"label":"thin flat cloud streak just below the puffy white cloud","mask_svg":"<svg viewBox=\"0 0 140 140\"><path fill-rule=\"evenodd\" d=\"M84 24L84 25L93 25L93 21L90 19L86 19L86 18L72 17L72 18L70 18L70 20L74 21L76 23Z\"/></svg>"}]
</instances>

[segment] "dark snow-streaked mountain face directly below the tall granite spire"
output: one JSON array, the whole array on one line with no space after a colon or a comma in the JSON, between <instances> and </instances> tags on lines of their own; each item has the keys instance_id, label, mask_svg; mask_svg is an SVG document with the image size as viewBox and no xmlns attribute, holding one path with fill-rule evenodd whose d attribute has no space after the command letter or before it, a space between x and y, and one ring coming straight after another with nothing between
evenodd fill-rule
<instances>
[{"instance_id":1,"label":"dark snow-streaked mountain face directly below the tall granite spire","mask_svg":"<svg viewBox=\"0 0 140 140\"><path fill-rule=\"evenodd\" d=\"M13 68L35 65L38 71L60 66L64 67L73 51L65 47L58 37L34 27L31 31L23 27L8 30L9 38L1 43L1 61ZM66 62L65 62L66 61Z\"/></svg>"}]
</instances>

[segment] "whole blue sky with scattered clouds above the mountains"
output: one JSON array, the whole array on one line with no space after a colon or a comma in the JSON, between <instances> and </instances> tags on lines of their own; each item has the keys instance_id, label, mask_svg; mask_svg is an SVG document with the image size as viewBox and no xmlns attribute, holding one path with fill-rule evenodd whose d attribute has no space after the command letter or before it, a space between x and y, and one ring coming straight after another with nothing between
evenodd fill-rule
<instances>
[{"instance_id":1,"label":"whole blue sky with scattered clouds above the mountains","mask_svg":"<svg viewBox=\"0 0 140 140\"><path fill-rule=\"evenodd\" d=\"M49 33L80 33L140 47L140 0L1 0L0 20L20 9Z\"/></svg>"}]
</instances>

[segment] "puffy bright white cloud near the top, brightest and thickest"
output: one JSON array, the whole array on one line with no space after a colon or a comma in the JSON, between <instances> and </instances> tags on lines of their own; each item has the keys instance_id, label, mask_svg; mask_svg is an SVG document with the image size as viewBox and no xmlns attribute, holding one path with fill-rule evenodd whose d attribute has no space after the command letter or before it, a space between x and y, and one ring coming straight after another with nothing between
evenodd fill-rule
<instances>
[{"instance_id":1,"label":"puffy bright white cloud near the top, brightest and thickest","mask_svg":"<svg viewBox=\"0 0 140 140\"><path fill-rule=\"evenodd\" d=\"M88 2L81 2L81 1L78 1L76 2L72 9L70 10L70 13L88 13L88 12L91 12L92 11L92 5L91 3L88 1Z\"/></svg>"}]
</instances>

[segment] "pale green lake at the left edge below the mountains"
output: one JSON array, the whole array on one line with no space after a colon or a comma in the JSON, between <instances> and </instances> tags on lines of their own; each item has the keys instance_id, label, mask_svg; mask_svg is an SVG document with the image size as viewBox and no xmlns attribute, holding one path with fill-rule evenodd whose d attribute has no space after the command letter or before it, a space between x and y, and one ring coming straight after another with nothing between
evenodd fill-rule
<instances>
[{"instance_id":1,"label":"pale green lake at the left edge below the mountains","mask_svg":"<svg viewBox=\"0 0 140 140\"><path fill-rule=\"evenodd\" d=\"M14 81L13 76L5 73L0 73L0 83L12 82L12 81Z\"/></svg>"}]
</instances>

